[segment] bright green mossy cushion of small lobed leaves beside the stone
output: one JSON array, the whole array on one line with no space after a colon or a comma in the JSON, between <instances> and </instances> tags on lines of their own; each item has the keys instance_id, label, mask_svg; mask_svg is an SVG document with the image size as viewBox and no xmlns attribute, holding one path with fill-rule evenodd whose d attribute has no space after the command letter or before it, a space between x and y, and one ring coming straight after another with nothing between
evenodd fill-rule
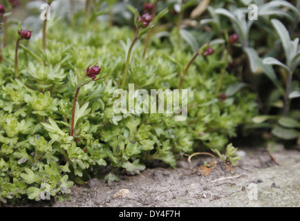
<instances>
[{"instance_id":1,"label":"bright green mossy cushion of small lobed leaves beside the stone","mask_svg":"<svg viewBox=\"0 0 300 221\"><path fill-rule=\"evenodd\" d=\"M18 78L10 56L14 46L3 50L1 202L24 197L42 200L45 192L52 196L69 193L74 182L100 175L108 166L111 173L106 173L105 179L109 184L118 181L120 169L140 173L147 161L160 160L175 167L179 153L190 154L200 148L221 151L236 136L236 127L249 124L257 114L256 95L247 87L224 99L215 96L219 70L224 66L222 44L212 45L214 54L189 64L194 57L189 46L182 44L178 51L168 41L158 48L149 44L147 59L142 57L144 46L137 46L126 82L135 89L173 90L178 88L182 67L189 64L182 82L187 89L187 119L176 121L174 113L113 112L117 99L113 93L121 88L127 52L120 41L131 38L133 30L109 27L101 23L95 33L84 32L84 22L75 30L68 23L57 23L47 35L46 55L39 39L20 47ZM92 82L86 77L86 67L95 62L102 68L102 80ZM237 83L239 79L225 71L220 91L225 93ZM71 134L72 119L76 123Z\"/></svg>"}]
</instances>

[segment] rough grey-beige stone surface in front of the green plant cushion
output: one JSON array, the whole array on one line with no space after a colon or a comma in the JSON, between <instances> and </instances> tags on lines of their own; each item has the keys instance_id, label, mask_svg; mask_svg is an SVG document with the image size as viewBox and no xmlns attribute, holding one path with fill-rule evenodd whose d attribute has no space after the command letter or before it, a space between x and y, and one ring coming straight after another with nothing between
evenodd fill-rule
<instances>
[{"instance_id":1,"label":"rough grey-beige stone surface in front of the green plant cushion","mask_svg":"<svg viewBox=\"0 0 300 221\"><path fill-rule=\"evenodd\" d=\"M92 179L73 186L71 200L57 200L52 206L300 206L299 151L284 150L272 157L264 149L243 151L245 157L232 171L218 163L205 176L199 173L198 162L214 159L193 157L193 170L182 159L179 168L123 175L112 186ZM116 198L122 189L130 194Z\"/></svg>"}]
</instances>

